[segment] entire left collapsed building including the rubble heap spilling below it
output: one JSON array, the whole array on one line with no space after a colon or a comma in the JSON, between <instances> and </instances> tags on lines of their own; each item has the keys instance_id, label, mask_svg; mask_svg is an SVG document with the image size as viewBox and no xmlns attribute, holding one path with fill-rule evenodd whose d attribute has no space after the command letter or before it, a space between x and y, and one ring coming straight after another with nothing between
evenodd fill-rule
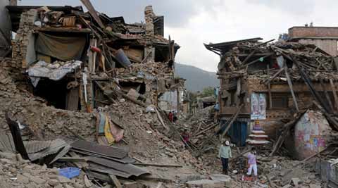
<instances>
[{"instance_id":1,"label":"entire left collapsed building including the rubble heap spilling below it","mask_svg":"<svg viewBox=\"0 0 338 188\"><path fill-rule=\"evenodd\" d=\"M18 162L15 168L34 169L1 175L1 187L144 187L134 180L149 178L144 175L156 166L182 167L154 164L183 148L161 133L170 127L158 101L176 94L179 113L184 91L184 80L174 75L180 46L163 37L164 17L147 6L144 23L127 24L82 3L89 13L81 6L6 6L13 39L10 53L0 58L0 155L18 153L18 159L7 156ZM1 161L6 170L13 167L8 161ZM184 161L196 164L184 150L171 163ZM50 169L66 166L84 174L60 180L60 172Z\"/></svg>"}]
</instances>

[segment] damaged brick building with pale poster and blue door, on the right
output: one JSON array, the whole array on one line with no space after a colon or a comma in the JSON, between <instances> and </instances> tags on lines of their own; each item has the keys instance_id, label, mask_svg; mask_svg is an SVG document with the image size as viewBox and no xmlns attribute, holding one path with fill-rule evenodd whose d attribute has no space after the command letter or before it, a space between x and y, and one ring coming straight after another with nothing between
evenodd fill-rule
<instances>
[{"instance_id":1,"label":"damaged brick building with pale poster and blue door, on the right","mask_svg":"<svg viewBox=\"0 0 338 188\"><path fill-rule=\"evenodd\" d=\"M295 114L318 106L337 129L335 58L314 44L260 40L205 44L220 56L219 119L232 141L277 139Z\"/></svg>"}]
</instances>

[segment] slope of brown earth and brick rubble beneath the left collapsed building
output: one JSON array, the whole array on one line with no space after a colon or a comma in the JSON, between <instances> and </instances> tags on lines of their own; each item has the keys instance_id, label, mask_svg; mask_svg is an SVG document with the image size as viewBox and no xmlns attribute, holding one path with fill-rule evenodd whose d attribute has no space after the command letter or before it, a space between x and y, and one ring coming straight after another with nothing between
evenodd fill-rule
<instances>
[{"instance_id":1,"label":"slope of brown earth and brick rubble beneath the left collapsed building","mask_svg":"<svg viewBox=\"0 0 338 188\"><path fill-rule=\"evenodd\" d=\"M0 70L3 78L0 90L1 96L4 96L1 97L1 103L4 104L4 109L13 115L13 120L18 120L27 129L32 130L29 132L29 140L63 138L72 142L77 139L96 139L96 112L80 113L46 106L44 99L18 90L11 77L6 75L6 71ZM118 123L125 130L123 141L115 143L114 146L127 147L130 156L137 158L138 163L146 165L144 169L153 173L158 171L151 177L154 180L161 180L163 174L165 180L175 182L178 177L174 172L180 171L182 166L182 170L189 173L201 169L201 162L184 149L182 142L175 142L159 132L165 128L154 111L146 111L143 106L122 98L116 104L99 108L99 111L106 113L114 123ZM163 119L165 120L164 116ZM4 112L1 112L1 121L2 128L7 130ZM165 123L168 123L168 120L165 120Z\"/></svg>"}]
</instances>

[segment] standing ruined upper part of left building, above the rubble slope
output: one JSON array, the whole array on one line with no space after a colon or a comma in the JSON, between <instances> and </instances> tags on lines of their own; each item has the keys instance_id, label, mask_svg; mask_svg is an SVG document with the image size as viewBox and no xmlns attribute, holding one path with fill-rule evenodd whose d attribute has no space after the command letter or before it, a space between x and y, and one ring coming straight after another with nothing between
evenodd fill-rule
<instances>
[{"instance_id":1,"label":"standing ruined upper part of left building, above the rubble slope","mask_svg":"<svg viewBox=\"0 0 338 188\"><path fill-rule=\"evenodd\" d=\"M16 35L4 66L22 89L71 111L92 111L120 95L157 106L165 92L182 90L184 80L174 75L180 46L163 37L163 16L148 6L145 23L127 24L84 4L89 13L80 6L6 6Z\"/></svg>"}]
</instances>

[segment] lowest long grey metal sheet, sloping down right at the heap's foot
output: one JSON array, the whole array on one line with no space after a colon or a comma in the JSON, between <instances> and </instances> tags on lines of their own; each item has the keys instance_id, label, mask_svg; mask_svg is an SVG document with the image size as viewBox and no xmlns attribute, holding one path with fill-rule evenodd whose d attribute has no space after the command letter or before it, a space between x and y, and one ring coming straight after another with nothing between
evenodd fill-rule
<instances>
[{"instance_id":1,"label":"lowest long grey metal sheet, sloping down right at the heap's foot","mask_svg":"<svg viewBox=\"0 0 338 188\"><path fill-rule=\"evenodd\" d=\"M136 165L132 165L129 163L118 163L116 161L111 161L108 159L104 159L104 158L96 158L96 157L92 157L89 156L87 157L87 160L90 163L96 163L99 165L103 165L108 169L114 169L114 170L118 170L121 171L123 173L128 173L130 175L134 175L134 176L139 176L139 175L144 175L144 174L149 174L148 171L144 170L143 168L139 168Z\"/></svg>"}]
</instances>

